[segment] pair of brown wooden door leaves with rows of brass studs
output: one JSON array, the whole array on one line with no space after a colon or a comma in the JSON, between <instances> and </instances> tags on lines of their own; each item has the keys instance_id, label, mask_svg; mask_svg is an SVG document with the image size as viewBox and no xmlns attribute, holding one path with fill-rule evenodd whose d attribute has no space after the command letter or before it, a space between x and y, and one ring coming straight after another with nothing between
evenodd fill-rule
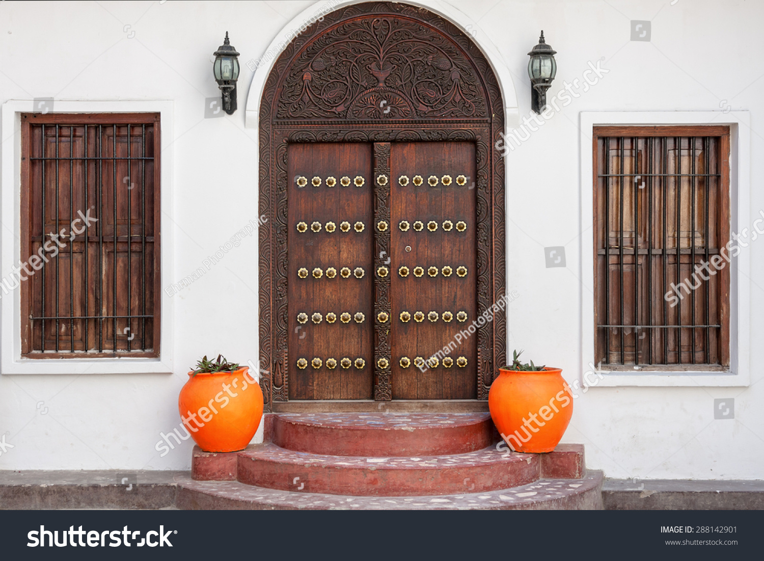
<instances>
[{"instance_id":1,"label":"pair of brown wooden door leaves with rows of brass studs","mask_svg":"<svg viewBox=\"0 0 764 561\"><path fill-rule=\"evenodd\" d=\"M470 142L290 144L290 399L474 399Z\"/></svg>"}]
</instances>

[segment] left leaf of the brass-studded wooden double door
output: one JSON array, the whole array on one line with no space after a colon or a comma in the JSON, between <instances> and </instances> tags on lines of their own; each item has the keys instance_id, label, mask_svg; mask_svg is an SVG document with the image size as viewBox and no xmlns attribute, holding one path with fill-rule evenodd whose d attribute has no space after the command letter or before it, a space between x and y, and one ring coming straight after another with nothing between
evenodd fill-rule
<instances>
[{"instance_id":1,"label":"left leaf of the brass-studded wooden double door","mask_svg":"<svg viewBox=\"0 0 764 561\"><path fill-rule=\"evenodd\" d=\"M287 149L287 243L288 243L288 338L290 362L290 399L371 399L374 390L374 179L373 147L366 143L290 144ZM306 186L297 179L304 177ZM320 180L319 186L312 179ZM336 180L334 186L326 182ZM342 177L351 180L342 186ZM362 186L355 186L356 177L363 178ZM304 222L306 232L297 225ZM312 231L316 222L317 232ZM326 229L332 222L333 232ZM349 232L342 232L342 222L348 222ZM354 228L363 225L361 232ZM306 278L299 277L305 268ZM326 274L334 268L336 275ZM342 268L351 274L342 277ZM364 271L360 279L354 276L356 268ZM319 269L318 278L312 271ZM305 313L307 320L298 317ZM318 323L312 316L320 314ZM337 319L329 323L327 314ZM349 313L348 323L342 322L342 313ZM361 313L358 323L354 316ZM317 318L319 316L316 316ZM307 365L298 367L303 358ZM320 360L314 366L313 359ZM329 368L327 360L338 362ZM364 361L362 368L354 364L342 368L342 358Z\"/></svg>"}]
</instances>

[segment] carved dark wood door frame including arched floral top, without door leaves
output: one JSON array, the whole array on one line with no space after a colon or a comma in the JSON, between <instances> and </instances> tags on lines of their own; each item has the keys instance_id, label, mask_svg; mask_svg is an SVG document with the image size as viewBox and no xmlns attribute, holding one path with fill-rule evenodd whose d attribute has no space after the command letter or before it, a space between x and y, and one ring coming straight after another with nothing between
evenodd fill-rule
<instances>
[{"instance_id":1,"label":"carved dark wood door frame including arched floral top, without door leaves","mask_svg":"<svg viewBox=\"0 0 764 561\"><path fill-rule=\"evenodd\" d=\"M478 400L487 400L494 372L506 362L506 316L503 306L494 306L506 284L504 161L493 149L504 130L504 112L494 71L471 37L413 5L369 2L332 11L299 34L274 63L259 128L259 329L266 410L289 400L286 149L291 142L474 142L478 314L492 318L476 324ZM378 369L374 374L374 399L390 400L390 374Z\"/></svg>"}]
</instances>

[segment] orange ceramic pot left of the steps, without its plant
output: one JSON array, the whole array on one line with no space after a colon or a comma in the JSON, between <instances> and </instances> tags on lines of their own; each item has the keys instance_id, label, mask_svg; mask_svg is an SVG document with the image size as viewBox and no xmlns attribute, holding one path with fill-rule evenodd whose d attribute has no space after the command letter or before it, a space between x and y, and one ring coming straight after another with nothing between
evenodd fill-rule
<instances>
[{"instance_id":1,"label":"orange ceramic pot left of the steps, without its plant","mask_svg":"<svg viewBox=\"0 0 764 561\"><path fill-rule=\"evenodd\" d=\"M186 430L205 452L235 452L247 447L263 417L263 392L247 374L197 374L180 390L178 409Z\"/></svg>"}]
</instances>

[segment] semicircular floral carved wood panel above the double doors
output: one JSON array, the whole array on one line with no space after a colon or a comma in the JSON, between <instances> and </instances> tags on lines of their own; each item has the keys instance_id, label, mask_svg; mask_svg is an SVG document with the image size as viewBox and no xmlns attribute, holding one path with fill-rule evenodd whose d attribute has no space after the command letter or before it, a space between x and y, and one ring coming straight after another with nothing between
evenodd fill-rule
<instances>
[{"instance_id":1,"label":"semicircular floral carved wood panel above the double doors","mask_svg":"<svg viewBox=\"0 0 764 561\"><path fill-rule=\"evenodd\" d=\"M485 118L477 70L450 37L400 16L359 18L294 60L277 118Z\"/></svg>"}]
</instances>

